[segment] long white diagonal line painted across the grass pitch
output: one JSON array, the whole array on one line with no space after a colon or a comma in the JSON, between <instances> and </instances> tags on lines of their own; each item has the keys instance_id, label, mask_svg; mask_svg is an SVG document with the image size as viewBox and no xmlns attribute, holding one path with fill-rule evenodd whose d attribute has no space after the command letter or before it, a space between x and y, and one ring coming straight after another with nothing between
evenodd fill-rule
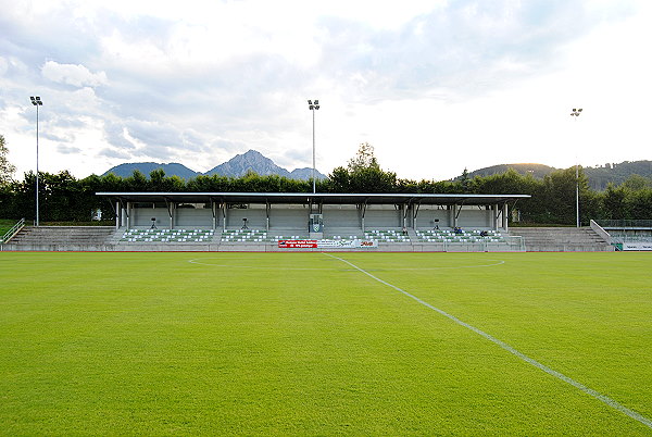
<instances>
[{"instance_id":1,"label":"long white diagonal line painted across the grass pitch","mask_svg":"<svg viewBox=\"0 0 652 437\"><path fill-rule=\"evenodd\" d=\"M527 363L529 363L529 364L534 365L535 367L538 367L538 369L542 370L543 372L546 372L546 373L548 373L548 374L550 374L550 375L554 376L554 377L555 377L555 378L557 378L557 379L561 379L561 380L563 380L564 383L568 383L568 384L570 384L572 386L574 386L574 387L576 387L576 388L579 388L579 389L580 389L581 391L584 391L585 394L587 394L587 395L589 395L589 396L592 396L593 398L595 398L595 399L598 399L598 400L600 400L600 401L602 401L602 402L606 403L606 404L607 404L607 405L610 405L611 408L613 408L613 409L616 409L616 410L620 411L622 413L625 413L625 414L627 414L628 416L630 416L630 417L631 417L631 419L634 419L635 421L638 421L638 422L642 423L643 425L645 425L645 426L648 426L648 427L652 428L652 421L651 421L650 419L648 419L648 417L645 417L645 416L643 416L643 415L641 415L641 414L637 413L637 412L636 412L636 411L634 411L634 410L630 410L630 409L628 409L627 407L624 407L624 405L622 405L620 403L618 403L617 401L613 400L613 399L612 399L612 398L610 398L609 396L604 396L604 395L602 395L602 394L600 394L600 392L598 392L598 391L593 390L592 388L589 388L589 387L585 386L584 384L581 384L581 383L578 383L577 380L569 378L568 376L564 375L563 373L560 373L560 372L557 372L557 371L554 371L554 370L552 370L552 369L548 367L548 366L547 366L547 365L544 365L544 364L541 364L541 363L540 363L540 362L538 362L537 360L534 360L534 359L531 359L531 358L527 357L526 354L524 354L524 353L522 353L522 352L517 351L516 349L514 349L513 347L511 347L511 346L510 346L510 345L507 345L506 342L499 340L498 338L496 338L496 337L493 337L493 336L491 336L491 335L489 335L489 334L485 333L485 332L484 332L484 330L481 330L481 329L478 329L478 328L477 328L477 327L475 327L475 326L472 326L472 325L469 325L469 324L468 324L468 323L466 323L466 322L462 322L460 319L455 317L454 315L452 315L452 314L449 314L449 313L447 313L446 311L443 311L443 310L440 310L440 309L438 309L438 308L436 308L436 307L432 307L431 304L429 304L428 302L426 302L426 301L424 301L424 300L422 300L422 299L417 298L416 296L414 296L414 295L411 295L411 294L409 294L408 291L405 291L405 290L403 290L403 289L401 289L401 288L399 288L399 287L397 287L397 286L394 286L394 285L391 285L391 284L389 284L389 283L387 283L387 282L385 282L385 280L383 280L383 279L380 279L380 278L378 278L378 277L376 277L376 276L374 276L374 275L372 275L371 273L368 273L368 272L364 271L363 269L360 269L358 265L355 265L355 264L353 264L353 263L351 263L351 262L349 262L349 261L347 261L347 260L343 260L343 259L341 259L341 258L338 258L338 257L331 255L330 253L324 253L324 254L325 254L325 255L328 255L328 257L331 257L331 258L335 258L335 259L337 259L337 260L340 260L340 261L341 261L341 262L343 262L343 263L347 263L347 264L349 264L349 265L350 265L350 266L352 266L353 269L358 270L358 271L359 271L359 272L361 272L361 273L364 273L365 275L367 275L367 276L369 276L371 278L373 278L373 279L375 279L375 280L379 282L380 284L384 284L384 285L386 285L386 286L388 286L388 287L390 287L390 288L393 288L394 290L397 290L397 291L399 291L399 292L401 292L401 294L403 294L403 295L408 296L409 298L412 298L412 299L416 300L416 301L417 301L418 303L421 303L422 305L424 305L424 307L427 307L427 308L429 308L430 310L437 311L439 314L441 314L441 315L443 315L443 316L446 316L446 317L448 317L448 319L452 320L452 321L453 321L453 322L455 322L456 324L459 324L459 325L462 325L462 326L464 326L465 328L468 328L468 329L473 330L474 333L481 335L482 337L485 337L485 338L486 338L486 339L488 339L489 341L491 341L491 342L493 342L493 344L496 344L496 345L500 346L501 348L503 348L503 349L504 349L504 350L506 350L507 352L510 352L510 353L512 353L512 354L514 354L514 355L518 357L519 359L522 359L523 361L525 361L525 362L527 362Z\"/></svg>"}]
</instances>

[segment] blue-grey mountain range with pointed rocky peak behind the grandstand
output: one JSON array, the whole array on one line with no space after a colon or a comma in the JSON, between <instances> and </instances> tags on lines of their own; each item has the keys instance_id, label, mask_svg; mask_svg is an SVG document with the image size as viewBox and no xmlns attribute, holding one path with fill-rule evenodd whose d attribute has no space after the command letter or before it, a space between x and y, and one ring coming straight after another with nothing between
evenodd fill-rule
<instances>
[{"instance_id":1,"label":"blue-grey mountain range with pointed rocky peak behind the grandstand","mask_svg":"<svg viewBox=\"0 0 652 437\"><path fill-rule=\"evenodd\" d=\"M113 173L116 176L128 177L131 176L135 170L138 170L149 177L150 172L156 168L163 168L166 176L176 175L183 179L189 179L199 175L214 174L221 176L241 177L244 176L247 172L255 172L261 176L279 175L292 179L308 180L312 177L312 168L310 167L294 168L289 172L286 168L276 165L269 158L266 158L255 150L249 150L246 153L237 154L227 162L209 170L206 173L196 172L178 163L159 164L155 162L136 162L116 165L112 168L109 168L104 175ZM319 172L316 173L316 177L318 179L326 178L326 176Z\"/></svg>"}]
</instances>

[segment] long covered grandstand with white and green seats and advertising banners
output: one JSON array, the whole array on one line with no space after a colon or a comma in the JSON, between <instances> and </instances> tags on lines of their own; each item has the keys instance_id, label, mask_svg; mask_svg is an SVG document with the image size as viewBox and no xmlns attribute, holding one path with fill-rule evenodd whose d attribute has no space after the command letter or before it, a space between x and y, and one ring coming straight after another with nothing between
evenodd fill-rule
<instances>
[{"instance_id":1,"label":"long covered grandstand with white and green seats and advertising banners","mask_svg":"<svg viewBox=\"0 0 652 437\"><path fill-rule=\"evenodd\" d=\"M118 251L523 251L523 238L511 235L507 228L507 205L529 197L298 192L97 195L111 202L116 220L103 245L100 247L93 241L91 250ZM14 244L4 245L4 250L66 250L70 247L62 238L48 241L46 248L28 237L36 232L26 227L14 237Z\"/></svg>"}]
</instances>

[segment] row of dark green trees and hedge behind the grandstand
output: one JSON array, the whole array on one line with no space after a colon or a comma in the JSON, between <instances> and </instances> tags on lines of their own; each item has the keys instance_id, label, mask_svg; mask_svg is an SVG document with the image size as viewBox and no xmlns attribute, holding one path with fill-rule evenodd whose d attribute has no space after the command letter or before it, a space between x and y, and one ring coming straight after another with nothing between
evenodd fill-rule
<instances>
[{"instance_id":1,"label":"row of dark green trees and hedge behind the grandstand","mask_svg":"<svg viewBox=\"0 0 652 437\"><path fill-rule=\"evenodd\" d=\"M23 180L0 183L0 218L34 220L36 175L26 173ZM609 185L603 191L589 187L582 170L576 178L575 167L550 173L543 178L522 175L514 170L491 176L468 177L466 172L456 180L412 180L398 178L396 173L378 165L369 145L361 145L347 166L337 167L326 179L316 180L317 192L416 192L416 193L481 193L530 195L530 199L511 204L522 223L572 225L575 223L575 189L579 184L580 220L652 218L652 183L634 175L625 183ZM134 172L129 177L113 174L76 178L70 172L39 173L39 203L42 222L88 222L101 210L103 218L114 218L115 212L98 191L165 191L165 192L312 192L312 180L298 180L277 175L249 173L242 177L201 175L189 180L166 176L154 170L147 177Z\"/></svg>"}]
</instances>

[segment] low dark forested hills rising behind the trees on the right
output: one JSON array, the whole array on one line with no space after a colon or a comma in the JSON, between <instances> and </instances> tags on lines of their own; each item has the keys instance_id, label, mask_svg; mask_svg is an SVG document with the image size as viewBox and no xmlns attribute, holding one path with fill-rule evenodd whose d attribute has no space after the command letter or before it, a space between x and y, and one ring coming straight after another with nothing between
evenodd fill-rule
<instances>
[{"instance_id":1,"label":"low dark forested hills rising behind the trees on the right","mask_svg":"<svg viewBox=\"0 0 652 437\"><path fill-rule=\"evenodd\" d=\"M468 172L468 177L490 176L501 174L509 168L514 168L522 175L530 174L537 179L554 172L555 167L543 164L499 164ZM634 174L652 179L652 161L625 161L620 163L607 163L603 166L584 167L589 178L589 186L594 190L603 190L610 183L620 185ZM455 180L461 178L456 177Z\"/></svg>"}]
</instances>

